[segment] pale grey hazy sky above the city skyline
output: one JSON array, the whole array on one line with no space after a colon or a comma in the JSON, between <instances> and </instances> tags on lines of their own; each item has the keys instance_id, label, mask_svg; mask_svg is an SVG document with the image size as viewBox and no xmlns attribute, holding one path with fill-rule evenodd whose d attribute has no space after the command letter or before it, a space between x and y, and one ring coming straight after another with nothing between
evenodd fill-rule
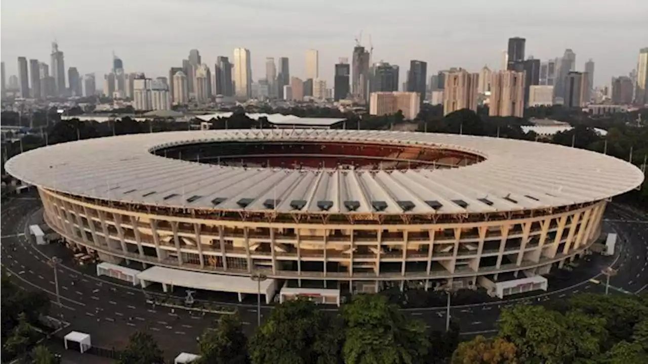
<instances>
[{"instance_id":1,"label":"pale grey hazy sky above the city skyline","mask_svg":"<svg viewBox=\"0 0 648 364\"><path fill-rule=\"evenodd\" d=\"M189 49L213 67L235 47L251 52L253 78L266 57L290 58L291 76L305 76L305 50L319 50L319 73L349 57L354 38L373 40L373 60L428 62L428 76L449 67L478 71L502 64L507 38L526 38L526 55L546 60L566 48L577 70L593 58L596 84L636 67L648 47L645 0L0 0L0 60L16 74L17 56L50 63L56 38L65 67L100 75L111 52L126 72L166 76ZM7 75L7 78L8 78ZM98 87L101 84L98 83Z\"/></svg>"}]
</instances>

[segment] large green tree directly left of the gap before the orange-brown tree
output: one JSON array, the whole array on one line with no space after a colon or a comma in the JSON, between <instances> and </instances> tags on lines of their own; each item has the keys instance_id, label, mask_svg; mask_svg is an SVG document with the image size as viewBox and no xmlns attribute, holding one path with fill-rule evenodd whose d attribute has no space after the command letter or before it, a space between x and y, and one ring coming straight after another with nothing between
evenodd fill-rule
<instances>
[{"instance_id":1,"label":"large green tree directly left of the gap before the orange-brown tree","mask_svg":"<svg viewBox=\"0 0 648 364\"><path fill-rule=\"evenodd\" d=\"M412 364L428 353L421 321L409 319L382 295L357 295L345 305L346 364Z\"/></svg>"}]
</instances>

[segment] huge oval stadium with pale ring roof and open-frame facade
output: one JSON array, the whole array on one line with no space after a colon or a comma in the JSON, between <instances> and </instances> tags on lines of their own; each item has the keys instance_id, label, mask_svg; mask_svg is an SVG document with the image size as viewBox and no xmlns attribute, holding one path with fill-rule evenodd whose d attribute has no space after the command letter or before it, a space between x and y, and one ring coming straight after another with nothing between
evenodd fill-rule
<instances>
[{"instance_id":1,"label":"huge oval stadium with pale ring roof and open-frame facade","mask_svg":"<svg viewBox=\"0 0 648 364\"><path fill-rule=\"evenodd\" d=\"M142 280L214 290L259 275L353 292L540 284L643 181L630 163L555 144L312 129L88 139L6 170L38 188L67 242L141 263Z\"/></svg>"}]
</instances>

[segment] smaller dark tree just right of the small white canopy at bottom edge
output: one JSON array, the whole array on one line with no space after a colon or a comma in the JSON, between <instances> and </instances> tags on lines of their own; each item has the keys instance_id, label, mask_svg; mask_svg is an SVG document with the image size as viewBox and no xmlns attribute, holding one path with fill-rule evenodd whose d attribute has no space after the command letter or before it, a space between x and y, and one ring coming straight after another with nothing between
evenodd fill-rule
<instances>
[{"instance_id":1,"label":"smaller dark tree just right of the small white canopy at bottom edge","mask_svg":"<svg viewBox=\"0 0 648 364\"><path fill-rule=\"evenodd\" d=\"M198 341L201 358L196 364L248 363L248 338L238 317L224 315L216 328L208 328Z\"/></svg>"}]
</instances>

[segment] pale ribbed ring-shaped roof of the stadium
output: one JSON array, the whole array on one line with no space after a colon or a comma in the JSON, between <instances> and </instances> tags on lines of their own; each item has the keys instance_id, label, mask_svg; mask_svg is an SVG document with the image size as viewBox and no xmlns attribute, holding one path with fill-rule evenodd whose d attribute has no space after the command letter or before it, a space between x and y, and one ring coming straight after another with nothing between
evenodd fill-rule
<instances>
[{"instance_id":1,"label":"pale ribbed ring-shaped roof of the stadium","mask_svg":"<svg viewBox=\"0 0 648 364\"><path fill-rule=\"evenodd\" d=\"M286 170L159 157L152 148L211 141L427 144L485 161L452 169ZM372 130L206 130L87 139L30 150L6 170L26 183L90 198L219 210L454 214L538 209L610 198L643 181L636 166L555 144ZM246 203L240 204L245 200ZM279 202L268 208L268 200ZM296 204L295 201L299 201ZM408 203L410 202L410 203ZM295 205L301 205L295 209ZM323 209L322 206L327 206ZM413 206L412 206L413 205Z\"/></svg>"}]
</instances>

